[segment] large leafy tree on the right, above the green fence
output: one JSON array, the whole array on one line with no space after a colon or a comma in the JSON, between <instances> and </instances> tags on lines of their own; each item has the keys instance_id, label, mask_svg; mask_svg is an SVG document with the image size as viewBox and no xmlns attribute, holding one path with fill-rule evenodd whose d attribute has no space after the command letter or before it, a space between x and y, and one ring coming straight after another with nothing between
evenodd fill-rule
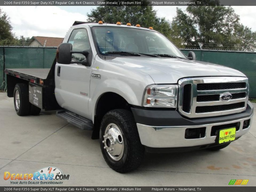
<instances>
[{"instance_id":1,"label":"large leafy tree on the right, above the green fence","mask_svg":"<svg viewBox=\"0 0 256 192\"><path fill-rule=\"evenodd\" d=\"M218 0L203 1L204 5L177 9L171 23L171 39L186 47L255 50L256 35L239 22L231 6L217 6ZM208 3L208 4L207 4Z\"/></svg>"}]
</instances>

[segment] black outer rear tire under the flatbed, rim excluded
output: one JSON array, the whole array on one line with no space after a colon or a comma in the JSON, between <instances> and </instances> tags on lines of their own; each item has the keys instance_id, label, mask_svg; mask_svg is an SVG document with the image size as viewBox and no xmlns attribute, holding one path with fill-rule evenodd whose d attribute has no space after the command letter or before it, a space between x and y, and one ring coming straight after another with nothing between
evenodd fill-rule
<instances>
[{"instance_id":1,"label":"black outer rear tire under the flatbed, rim excluded","mask_svg":"<svg viewBox=\"0 0 256 192\"><path fill-rule=\"evenodd\" d=\"M18 91L18 92L17 92ZM19 94L19 105L16 102L16 92ZM14 107L19 116L26 116L30 113L31 103L29 102L29 87L25 83L17 83L14 87Z\"/></svg>"}]
</instances>

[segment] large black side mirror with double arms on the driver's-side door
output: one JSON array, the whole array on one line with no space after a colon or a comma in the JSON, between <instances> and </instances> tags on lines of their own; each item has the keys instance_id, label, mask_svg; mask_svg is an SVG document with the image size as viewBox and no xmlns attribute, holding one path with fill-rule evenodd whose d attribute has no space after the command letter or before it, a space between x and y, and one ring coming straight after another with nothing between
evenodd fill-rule
<instances>
[{"instance_id":1,"label":"large black side mirror with double arms on the driver's-side door","mask_svg":"<svg viewBox=\"0 0 256 192\"><path fill-rule=\"evenodd\" d=\"M84 55L85 57L88 56L88 51L72 51L72 44L71 43L61 43L56 51L56 60L60 64L70 64L70 63L81 63L82 65L87 65L87 62L83 61L72 61L72 53L79 53Z\"/></svg>"}]
</instances>

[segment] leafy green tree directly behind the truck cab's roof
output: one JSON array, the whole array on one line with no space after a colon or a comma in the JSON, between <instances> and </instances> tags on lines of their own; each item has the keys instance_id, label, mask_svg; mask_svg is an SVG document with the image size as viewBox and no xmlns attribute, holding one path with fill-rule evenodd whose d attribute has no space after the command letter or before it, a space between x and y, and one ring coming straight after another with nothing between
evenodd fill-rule
<instances>
[{"instance_id":1,"label":"leafy green tree directly behind the truck cab's roof","mask_svg":"<svg viewBox=\"0 0 256 192\"><path fill-rule=\"evenodd\" d=\"M106 1L105 1L106 2ZM109 2L109 1L108 1ZM139 6L126 6L126 4L121 4L117 1L118 6L99 6L96 9L91 10L91 13L87 14L87 21L97 23L98 21L103 21L104 23L116 23L121 22L126 25L126 23L131 23L131 25L140 24L141 27L153 27L164 35L168 36L170 34L170 23L165 18L157 17L156 11L150 6L149 1L142 0L142 4ZM135 2L126 0L125 2Z\"/></svg>"}]
</instances>

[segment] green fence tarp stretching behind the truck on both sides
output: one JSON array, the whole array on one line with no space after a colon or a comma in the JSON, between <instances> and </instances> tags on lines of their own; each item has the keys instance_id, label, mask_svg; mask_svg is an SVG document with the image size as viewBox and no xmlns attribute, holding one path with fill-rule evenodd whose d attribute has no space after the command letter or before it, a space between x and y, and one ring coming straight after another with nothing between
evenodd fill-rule
<instances>
[{"instance_id":1,"label":"green fence tarp stretching behind the truck on both sides","mask_svg":"<svg viewBox=\"0 0 256 192\"><path fill-rule=\"evenodd\" d=\"M55 57L53 47L4 47L5 69L7 68L50 68ZM190 50L182 50L188 55ZM196 60L216 63L237 69L249 78L250 97L256 98L256 53L193 50ZM0 89L3 83L3 47L0 47ZM5 75L6 76L6 75ZM6 78L5 78L6 79Z\"/></svg>"}]
</instances>

